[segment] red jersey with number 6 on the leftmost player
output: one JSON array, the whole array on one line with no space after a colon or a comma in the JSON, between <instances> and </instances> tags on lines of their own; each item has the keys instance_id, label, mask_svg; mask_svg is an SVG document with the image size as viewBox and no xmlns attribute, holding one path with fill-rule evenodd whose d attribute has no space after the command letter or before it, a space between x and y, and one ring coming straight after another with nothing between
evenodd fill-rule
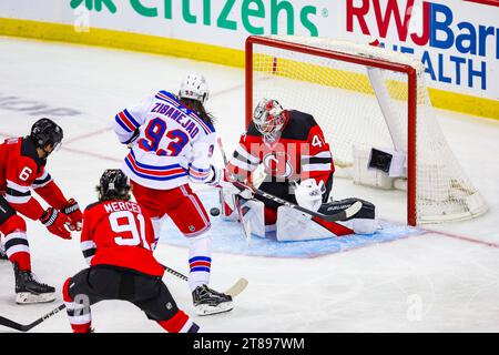
<instances>
[{"instance_id":1,"label":"red jersey with number 6 on the leftmost player","mask_svg":"<svg viewBox=\"0 0 499 355\"><path fill-rule=\"evenodd\" d=\"M60 210L67 199L45 170L45 160L38 156L30 138L7 139L0 144L0 194L23 215L38 220L43 209L31 197L30 189Z\"/></svg>"}]
</instances>

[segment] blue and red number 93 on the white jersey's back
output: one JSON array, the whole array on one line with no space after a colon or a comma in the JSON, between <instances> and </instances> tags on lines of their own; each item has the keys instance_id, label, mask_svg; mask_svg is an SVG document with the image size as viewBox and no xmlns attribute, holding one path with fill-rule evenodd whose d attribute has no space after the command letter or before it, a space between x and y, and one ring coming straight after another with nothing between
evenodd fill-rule
<instances>
[{"instance_id":1,"label":"blue and red number 93 on the white jersey's back","mask_svg":"<svg viewBox=\"0 0 499 355\"><path fill-rule=\"evenodd\" d=\"M157 155L177 156L185 144L189 143L189 136L181 130L166 132L166 122L162 119L155 118L151 120L144 132L145 138L139 140L139 146L146 152L155 152ZM170 144L166 146L166 150L159 149L163 136L170 139Z\"/></svg>"}]
</instances>

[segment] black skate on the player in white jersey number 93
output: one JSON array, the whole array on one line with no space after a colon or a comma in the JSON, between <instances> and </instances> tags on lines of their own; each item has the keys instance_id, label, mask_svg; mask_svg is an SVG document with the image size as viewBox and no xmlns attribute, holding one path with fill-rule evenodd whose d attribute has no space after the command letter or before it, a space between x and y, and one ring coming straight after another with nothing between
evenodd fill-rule
<instances>
[{"instance_id":1,"label":"black skate on the player in white jersey number 93","mask_svg":"<svg viewBox=\"0 0 499 355\"><path fill-rule=\"evenodd\" d=\"M197 286L192 293L192 300L197 315L223 313L234 308L230 295L213 291L206 285Z\"/></svg>"}]
</instances>

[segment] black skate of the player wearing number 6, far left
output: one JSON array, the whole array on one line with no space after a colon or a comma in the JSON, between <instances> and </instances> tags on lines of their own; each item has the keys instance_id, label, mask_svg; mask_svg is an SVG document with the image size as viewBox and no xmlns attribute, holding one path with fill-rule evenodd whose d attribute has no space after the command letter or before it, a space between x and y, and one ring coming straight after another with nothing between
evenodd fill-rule
<instances>
[{"instance_id":1,"label":"black skate of the player wearing number 6, far left","mask_svg":"<svg viewBox=\"0 0 499 355\"><path fill-rule=\"evenodd\" d=\"M55 300L55 288L40 283L32 272L21 271L17 263L13 263L16 275L16 303L45 303Z\"/></svg>"}]
</instances>

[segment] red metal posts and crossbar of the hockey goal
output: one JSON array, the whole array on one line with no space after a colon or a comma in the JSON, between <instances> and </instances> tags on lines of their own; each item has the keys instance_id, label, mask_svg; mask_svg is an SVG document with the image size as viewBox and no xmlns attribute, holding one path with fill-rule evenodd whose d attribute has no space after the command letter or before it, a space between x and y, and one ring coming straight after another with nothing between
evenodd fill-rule
<instances>
[{"instance_id":1,"label":"red metal posts and crossbar of the hockey goal","mask_svg":"<svg viewBox=\"0 0 499 355\"><path fill-rule=\"evenodd\" d=\"M302 52L309 55L317 55L349 62L363 67L373 67L378 69L391 70L406 73L408 78L408 122L407 122L407 223L416 225L416 113L417 113L417 75L416 69L410 65L394 63L386 60L365 58L360 55L342 53L327 49L320 49L312 45L293 43L289 41L277 40L258 36L251 36L245 44L245 80L246 80L246 126L249 124L253 115L253 47L255 44L274 47L294 52ZM334 153L334 152L333 152ZM334 154L333 154L334 156Z\"/></svg>"}]
</instances>

